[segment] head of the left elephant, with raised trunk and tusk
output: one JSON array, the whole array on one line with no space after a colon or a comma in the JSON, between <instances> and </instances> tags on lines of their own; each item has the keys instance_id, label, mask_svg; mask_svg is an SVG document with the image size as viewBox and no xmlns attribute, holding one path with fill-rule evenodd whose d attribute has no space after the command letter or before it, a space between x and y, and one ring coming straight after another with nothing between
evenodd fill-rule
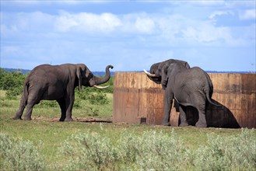
<instances>
[{"instance_id":1,"label":"head of the left elephant, with raised trunk and tusk","mask_svg":"<svg viewBox=\"0 0 256 171\"><path fill-rule=\"evenodd\" d=\"M89 68L87 68L86 65L77 65L76 76L78 78L79 89L81 89L82 86L95 87L97 89L107 88L108 86L99 85L107 82L110 79L110 68L113 69L114 67L112 65L107 65L106 75L100 78L93 75L93 73L89 71Z\"/></svg>"}]
</instances>

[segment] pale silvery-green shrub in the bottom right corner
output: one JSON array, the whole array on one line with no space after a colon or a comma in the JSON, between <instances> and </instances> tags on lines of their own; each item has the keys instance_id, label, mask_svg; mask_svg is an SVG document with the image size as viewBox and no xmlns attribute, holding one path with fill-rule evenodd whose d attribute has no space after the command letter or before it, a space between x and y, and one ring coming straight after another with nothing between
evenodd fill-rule
<instances>
[{"instance_id":1,"label":"pale silvery-green shrub in the bottom right corner","mask_svg":"<svg viewBox=\"0 0 256 171\"><path fill-rule=\"evenodd\" d=\"M255 139L247 129L226 138L209 134L209 146L196 150L194 165L198 170L256 170Z\"/></svg>"}]
</instances>

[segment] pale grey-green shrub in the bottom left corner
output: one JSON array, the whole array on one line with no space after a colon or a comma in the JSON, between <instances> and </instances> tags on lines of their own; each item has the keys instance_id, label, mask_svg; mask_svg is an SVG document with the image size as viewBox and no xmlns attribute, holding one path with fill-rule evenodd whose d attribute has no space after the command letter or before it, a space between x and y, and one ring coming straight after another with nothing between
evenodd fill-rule
<instances>
[{"instance_id":1,"label":"pale grey-green shrub in the bottom left corner","mask_svg":"<svg viewBox=\"0 0 256 171\"><path fill-rule=\"evenodd\" d=\"M0 149L3 170L44 170L44 162L37 148L30 141L15 141L0 133Z\"/></svg>"}]
</instances>

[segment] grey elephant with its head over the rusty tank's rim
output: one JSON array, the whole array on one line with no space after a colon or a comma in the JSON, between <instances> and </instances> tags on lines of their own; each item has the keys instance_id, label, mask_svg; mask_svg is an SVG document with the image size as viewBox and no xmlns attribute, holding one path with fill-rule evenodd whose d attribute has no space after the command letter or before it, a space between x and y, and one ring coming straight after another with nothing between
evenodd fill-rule
<instances>
[{"instance_id":1,"label":"grey elephant with its head over the rusty tank's rim","mask_svg":"<svg viewBox=\"0 0 256 171\"><path fill-rule=\"evenodd\" d=\"M188 126L186 106L194 106L198 110L195 126L207 127L205 111L207 104L212 103L213 85L206 72L198 67L190 68L186 61L170 59L152 65L146 74L165 89L163 125L170 126L170 110L176 99L180 109L179 126Z\"/></svg>"}]
</instances>

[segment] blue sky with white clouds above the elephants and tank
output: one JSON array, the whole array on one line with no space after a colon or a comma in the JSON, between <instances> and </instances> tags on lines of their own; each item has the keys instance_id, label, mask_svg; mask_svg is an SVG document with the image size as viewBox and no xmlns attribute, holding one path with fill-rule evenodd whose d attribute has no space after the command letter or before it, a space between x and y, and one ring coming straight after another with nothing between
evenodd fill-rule
<instances>
[{"instance_id":1,"label":"blue sky with white clouds above the elephants and tank","mask_svg":"<svg viewBox=\"0 0 256 171\"><path fill-rule=\"evenodd\" d=\"M142 71L169 58L255 72L255 1L1 0L1 67Z\"/></svg>"}]
</instances>

